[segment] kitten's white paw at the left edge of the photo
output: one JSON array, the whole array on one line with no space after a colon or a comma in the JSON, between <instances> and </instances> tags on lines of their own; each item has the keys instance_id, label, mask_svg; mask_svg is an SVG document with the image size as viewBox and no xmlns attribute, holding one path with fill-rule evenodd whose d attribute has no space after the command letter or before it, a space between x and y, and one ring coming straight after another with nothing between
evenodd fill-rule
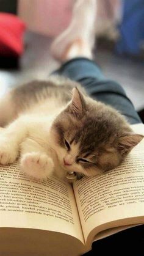
<instances>
[{"instance_id":1,"label":"kitten's white paw at the left edge of the photo","mask_svg":"<svg viewBox=\"0 0 144 256\"><path fill-rule=\"evenodd\" d=\"M18 150L7 141L0 140L0 164L12 164L18 157Z\"/></svg>"}]
</instances>

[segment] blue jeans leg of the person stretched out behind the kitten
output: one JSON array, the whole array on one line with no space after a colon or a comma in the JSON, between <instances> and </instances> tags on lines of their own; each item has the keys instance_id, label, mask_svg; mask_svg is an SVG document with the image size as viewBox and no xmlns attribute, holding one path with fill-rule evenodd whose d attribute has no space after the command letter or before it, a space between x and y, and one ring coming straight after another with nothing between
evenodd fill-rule
<instances>
[{"instance_id":1,"label":"blue jeans leg of the person stretched out behind the kitten","mask_svg":"<svg viewBox=\"0 0 144 256\"><path fill-rule=\"evenodd\" d=\"M93 60L82 57L71 59L53 74L66 76L81 83L90 97L117 109L129 123L142 122L123 87L118 82L107 79Z\"/></svg>"}]
</instances>

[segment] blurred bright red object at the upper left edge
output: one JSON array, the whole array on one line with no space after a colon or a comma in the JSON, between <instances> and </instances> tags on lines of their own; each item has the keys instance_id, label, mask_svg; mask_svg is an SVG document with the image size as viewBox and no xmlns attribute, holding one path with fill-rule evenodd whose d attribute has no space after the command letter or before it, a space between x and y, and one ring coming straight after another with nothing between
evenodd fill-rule
<instances>
[{"instance_id":1,"label":"blurred bright red object at the upper left edge","mask_svg":"<svg viewBox=\"0 0 144 256\"><path fill-rule=\"evenodd\" d=\"M0 56L19 57L23 53L26 26L17 16L0 13Z\"/></svg>"}]
</instances>

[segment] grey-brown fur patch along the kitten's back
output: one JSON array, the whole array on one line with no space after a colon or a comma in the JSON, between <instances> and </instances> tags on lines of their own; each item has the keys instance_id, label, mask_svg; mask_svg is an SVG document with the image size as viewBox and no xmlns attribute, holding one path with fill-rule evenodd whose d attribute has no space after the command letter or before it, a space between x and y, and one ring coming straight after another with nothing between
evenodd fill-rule
<instances>
[{"instance_id":1,"label":"grey-brown fur patch along the kitten's back","mask_svg":"<svg viewBox=\"0 0 144 256\"><path fill-rule=\"evenodd\" d=\"M49 108L61 106L71 99L71 89L74 82L68 79L52 76L48 81L31 81L16 87L12 91L12 101L19 111L38 108L47 104Z\"/></svg>"}]
</instances>

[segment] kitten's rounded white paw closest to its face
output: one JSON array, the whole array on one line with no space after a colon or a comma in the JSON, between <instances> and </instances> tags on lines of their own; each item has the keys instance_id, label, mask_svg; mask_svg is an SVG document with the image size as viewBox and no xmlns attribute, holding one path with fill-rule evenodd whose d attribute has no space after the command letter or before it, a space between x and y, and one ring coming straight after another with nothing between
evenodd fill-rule
<instances>
[{"instance_id":1,"label":"kitten's rounded white paw closest to its face","mask_svg":"<svg viewBox=\"0 0 144 256\"><path fill-rule=\"evenodd\" d=\"M21 169L29 176L46 179L52 174L54 163L45 153L31 152L22 156Z\"/></svg>"}]
</instances>

